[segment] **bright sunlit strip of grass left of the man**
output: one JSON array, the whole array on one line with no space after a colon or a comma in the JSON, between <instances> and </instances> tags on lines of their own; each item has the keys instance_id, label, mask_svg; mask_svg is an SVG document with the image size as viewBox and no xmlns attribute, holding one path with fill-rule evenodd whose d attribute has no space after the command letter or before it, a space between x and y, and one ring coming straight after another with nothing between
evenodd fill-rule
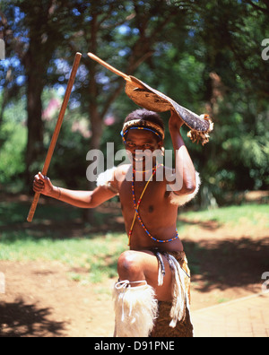
<instances>
[{"instance_id":1,"label":"bright sunlit strip of grass left of the man","mask_svg":"<svg viewBox=\"0 0 269 355\"><path fill-rule=\"evenodd\" d=\"M4 232L0 241L0 260L59 261L84 272L70 272L75 281L100 282L117 276L117 257L126 250L126 235L109 233L94 238L34 238L29 232Z\"/></svg>"}]
</instances>

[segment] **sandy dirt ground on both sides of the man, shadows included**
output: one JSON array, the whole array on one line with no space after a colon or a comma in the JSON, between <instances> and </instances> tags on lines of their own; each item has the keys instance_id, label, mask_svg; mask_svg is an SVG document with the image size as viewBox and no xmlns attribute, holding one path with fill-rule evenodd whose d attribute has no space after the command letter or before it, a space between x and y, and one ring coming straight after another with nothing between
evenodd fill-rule
<instances>
[{"instance_id":1,"label":"sandy dirt ground on both sides of the man, shadows included","mask_svg":"<svg viewBox=\"0 0 269 355\"><path fill-rule=\"evenodd\" d=\"M268 224L246 221L232 229L206 221L198 232L192 225L183 236L193 273L192 310L261 291L261 276L269 272ZM0 337L112 336L116 280L83 285L71 280L71 271L59 262L0 261Z\"/></svg>"}]
</instances>

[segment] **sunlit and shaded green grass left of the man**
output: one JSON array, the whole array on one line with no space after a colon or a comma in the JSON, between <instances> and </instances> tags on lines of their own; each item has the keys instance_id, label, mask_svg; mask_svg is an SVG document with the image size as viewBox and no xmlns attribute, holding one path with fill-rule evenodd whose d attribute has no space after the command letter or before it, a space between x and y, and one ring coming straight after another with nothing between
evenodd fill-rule
<instances>
[{"instance_id":1,"label":"sunlit and shaded green grass left of the man","mask_svg":"<svg viewBox=\"0 0 269 355\"><path fill-rule=\"evenodd\" d=\"M0 260L59 261L70 266L70 279L81 282L117 275L117 257L127 248L125 234L91 234L82 225L81 235L68 238L63 227L81 216L79 209L63 203L39 205L28 224L29 208L29 203L0 202ZM105 218L103 214L95 217L98 223ZM78 268L80 273L73 271Z\"/></svg>"}]
</instances>

